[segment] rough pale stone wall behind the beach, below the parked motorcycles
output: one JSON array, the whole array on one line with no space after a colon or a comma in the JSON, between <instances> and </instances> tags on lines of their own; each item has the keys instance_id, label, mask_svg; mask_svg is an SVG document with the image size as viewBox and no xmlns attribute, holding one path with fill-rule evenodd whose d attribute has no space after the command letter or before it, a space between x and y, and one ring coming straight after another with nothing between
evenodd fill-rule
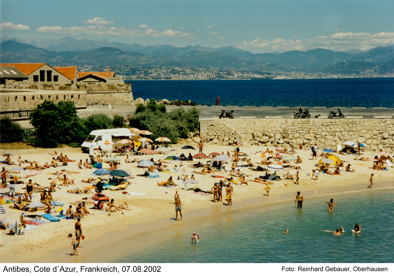
<instances>
[{"instance_id":1,"label":"rough pale stone wall behind the beach, below the parked motorcycles","mask_svg":"<svg viewBox=\"0 0 394 276\"><path fill-rule=\"evenodd\" d=\"M200 137L208 144L296 147L315 144L336 148L346 141L365 143L364 150L394 152L393 119L215 119L201 123Z\"/></svg>"}]
</instances>

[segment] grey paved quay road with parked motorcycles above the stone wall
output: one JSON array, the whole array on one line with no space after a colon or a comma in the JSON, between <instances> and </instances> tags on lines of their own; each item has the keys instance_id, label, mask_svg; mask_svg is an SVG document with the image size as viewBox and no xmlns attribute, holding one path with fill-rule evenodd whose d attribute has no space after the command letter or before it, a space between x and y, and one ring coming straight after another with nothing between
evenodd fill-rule
<instances>
[{"instance_id":1,"label":"grey paved quay road with parked motorcycles above the stone wall","mask_svg":"<svg viewBox=\"0 0 394 276\"><path fill-rule=\"evenodd\" d=\"M88 106L86 109L78 109L78 114L80 117L87 117L94 113L105 113L107 115L122 115L126 117L127 115L133 115L136 106L112 106L113 109L109 109L108 106ZM177 106L167 106L167 110L171 111ZM191 107L184 106L185 109ZM200 120L213 120L215 117L219 117L221 109L220 106L198 106L201 110ZM250 119L290 119L293 118L294 108L288 107L226 107L226 111L234 110L234 118L250 118ZM338 110L335 108L326 107L313 107L310 108L311 117L314 118L315 115L321 115L320 118L327 118L330 111ZM345 115L345 119L385 119L394 118L394 109L388 108L341 108L342 113Z\"/></svg>"}]
</instances>

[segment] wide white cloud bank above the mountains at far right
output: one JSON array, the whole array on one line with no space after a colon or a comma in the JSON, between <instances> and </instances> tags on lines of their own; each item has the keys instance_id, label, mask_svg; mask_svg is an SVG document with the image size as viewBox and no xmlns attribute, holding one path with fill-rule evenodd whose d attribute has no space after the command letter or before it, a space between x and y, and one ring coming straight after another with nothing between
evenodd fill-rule
<instances>
[{"instance_id":1,"label":"wide white cloud bank above the mountains at far right","mask_svg":"<svg viewBox=\"0 0 394 276\"><path fill-rule=\"evenodd\" d=\"M256 37L252 41L244 41L241 48L255 48L267 52L272 50L285 52L291 50L310 50L325 48L334 51L346 51L349 49L370 50L376 46L388 46L394 44L394 33L334 33L329 37L316 36L312 39L261 39Z\"/></svg>"}]
</instances>

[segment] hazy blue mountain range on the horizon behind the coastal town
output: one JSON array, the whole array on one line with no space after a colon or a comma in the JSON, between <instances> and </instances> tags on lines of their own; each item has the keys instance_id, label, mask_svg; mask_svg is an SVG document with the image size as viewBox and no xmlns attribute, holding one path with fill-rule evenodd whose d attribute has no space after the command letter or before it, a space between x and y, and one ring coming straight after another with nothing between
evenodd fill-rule
<instances>
[{"instance_id":1,"label":"hazy blue mountain range on the horizon behind the coastal town","mask_svg":"<svg viewBox=\"0 0 394 276\"><path fill-rule=\"evenodd\" d=\"M2 63L47 62L52 65L127 65L127 66L196 66L230 67L234 69L279 69L287 72L313 71L361 74L371 70L378 74L394 72L394 45L368 51L352 49L335 52L326 49L253 54L228 46L220 48L200 45L143 46L107 40L34 38L3 39L0 44Z\"/></svg>"}]
</instances>

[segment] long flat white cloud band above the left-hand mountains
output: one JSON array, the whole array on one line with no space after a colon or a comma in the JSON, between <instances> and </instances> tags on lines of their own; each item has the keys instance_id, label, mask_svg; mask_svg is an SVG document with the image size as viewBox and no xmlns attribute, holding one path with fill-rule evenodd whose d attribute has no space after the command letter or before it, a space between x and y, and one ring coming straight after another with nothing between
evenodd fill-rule
<instances>
[{"instance_id":1,"label":"long flat white cloud band above the left-hand mountains","mask_svg":"<svg viewBox=\"0 0 394 276\"><path fill-rule=\"evenodd\" d=\"M88 35L109 35L119 37L189 37L190 34L182 31L157 31L152 29L141 30L138 28L108 28L106 26L87 26L87 27L60 27L60 26L42 26L36 31L44 33L64 33L70 35L88 34Z\"/></svg>"}]
</instances>

